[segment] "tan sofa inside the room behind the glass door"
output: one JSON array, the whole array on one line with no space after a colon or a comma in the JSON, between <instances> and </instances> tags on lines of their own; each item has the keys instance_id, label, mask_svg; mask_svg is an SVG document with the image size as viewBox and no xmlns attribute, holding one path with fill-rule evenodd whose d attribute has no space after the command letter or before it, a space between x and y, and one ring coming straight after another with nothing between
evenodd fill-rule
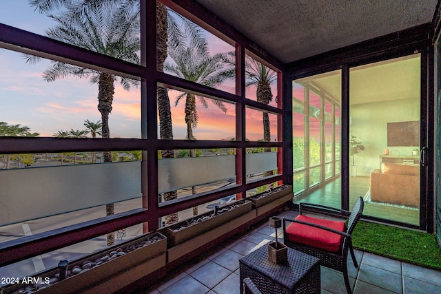
<instances>
[{"instance_id":1,"label":"tan sofa inside the room behind the glass door","mask_svg":"<svg viewBox=\"0 0 441 294\"><path fill-rule=\"evenodd\" d=\"M420 206L420 166L382 162L371 172L371 202Z\"/></svg>"}]
</instances>

